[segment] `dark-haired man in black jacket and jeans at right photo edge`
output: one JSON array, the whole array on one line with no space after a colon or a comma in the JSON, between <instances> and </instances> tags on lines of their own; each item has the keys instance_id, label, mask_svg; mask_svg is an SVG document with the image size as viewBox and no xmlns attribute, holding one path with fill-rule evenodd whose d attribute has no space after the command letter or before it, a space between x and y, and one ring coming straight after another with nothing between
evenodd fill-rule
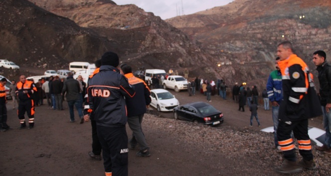
<instances>
[{"instance_id":1,"label":"dark-haired man in black jacket and jeans at right photo edge","mask_svg":"<svg viewBox=\"0 0 331 176\"><path fill-rule=\"evenodd\" d=\"M313 62L317 66L320 81L321 105L323 111L323 124L326 131L325 144L316 149L331 155L331 65L327 63L327 54L324 51L316 51Z\"/></svg>"}]
</instances>

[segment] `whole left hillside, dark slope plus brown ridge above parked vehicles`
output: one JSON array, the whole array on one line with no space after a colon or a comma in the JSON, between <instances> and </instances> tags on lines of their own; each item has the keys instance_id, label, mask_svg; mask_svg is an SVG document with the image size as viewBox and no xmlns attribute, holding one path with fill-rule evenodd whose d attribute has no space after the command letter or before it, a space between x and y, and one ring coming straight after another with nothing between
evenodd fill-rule
<instances>
[{"instance_id":1,"label":"whole left hillside, dark slope plus brown ridge above parked vehicles","mask_svg":"<svg viewBox=\"0 0 331 176\"><path fill-rule=\"evenodd\" d=\"M13 31L16 40L27 38L21 36L19 32L26 30L27 35L37 38L32 42L38 41L22 42L14 47L7 46L15 50L17 47L33 47L26 49L28 51L34 51L36 46L40 46L40 48L36 47L37 54L33 53L33 56L30 56L27 52L20 55L18 57L20 59L35 58L36 62L41 63L48 62L49 59L54 62L60 60L63 63L59 65L67 67L66 64L71 61L94 62L103 52L111 50L119 54L122 62L133 65L134 69L172 68L181 72L189 67L192 75L195 76L201 74L215 78L217 74L215 69L209 69L208 63L211 57L200 49L199 43L190 40L186 34L160 17L145 12L136 5L116 5L111 0L31 0L31 2L27 0L19 0L18 3L13 3L13 0L2 2L5 10L1 17L5 18L10 14L13 21L16 21L15 18L20 18L18 11L24 16L21 20L22 24L10 24L3 19L3 25L7 26L5 35L12 33L12 25L16 25L18 31ZM11 10L11 6L16 10ZM29 23L29 19L33 23L29 24L28 28L24 23ZM73 26L76 29L74 31L71 29ZM12 58L12 53L10 51L2 56ZM52 53L50 57L44 56L49 53Z\"/></svg>"}]
</instances>

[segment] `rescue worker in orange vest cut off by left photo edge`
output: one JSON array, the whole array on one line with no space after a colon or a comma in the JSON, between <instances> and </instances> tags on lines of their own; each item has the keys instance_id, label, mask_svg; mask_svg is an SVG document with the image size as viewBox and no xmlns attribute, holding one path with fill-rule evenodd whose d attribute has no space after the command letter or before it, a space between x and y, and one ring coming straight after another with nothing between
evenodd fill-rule
<instances>
[{"instance_id":1,"label":"rescue worker in orange vest cut off by left photo edge","mask_svg":"<svg viewBox=\"0 0 331 176\"><path fill-rule=\"evenodd\" d=\"M6 95L9 94L5 91L4 85L6 85L7 80L2 78L0 80L0 132L7 131L10 127L7 125L7 99Z\"/></svg>"}]
</instances>

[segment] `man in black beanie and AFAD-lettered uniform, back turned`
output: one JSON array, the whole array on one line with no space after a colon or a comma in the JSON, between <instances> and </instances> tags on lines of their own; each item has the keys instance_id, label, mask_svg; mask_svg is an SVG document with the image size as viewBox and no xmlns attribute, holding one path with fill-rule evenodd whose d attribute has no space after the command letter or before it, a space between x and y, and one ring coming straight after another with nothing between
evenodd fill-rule
<instances>
[{"instance_id":1,"label":"man in black beanie and AFAD-lettered uniform, back turned","mask_svg":"<svg viewBox=\"0 0 331 176\"><path fill-rule=\"evenodd\" d=\"M135 95L128 80L116 68L116 53L106 52L101 67L87 88L88 102L97 123L106 176L128 176L128 135L125 99ZM86 120L86 119L85 119Z\"/></svg>"}]
</instances>

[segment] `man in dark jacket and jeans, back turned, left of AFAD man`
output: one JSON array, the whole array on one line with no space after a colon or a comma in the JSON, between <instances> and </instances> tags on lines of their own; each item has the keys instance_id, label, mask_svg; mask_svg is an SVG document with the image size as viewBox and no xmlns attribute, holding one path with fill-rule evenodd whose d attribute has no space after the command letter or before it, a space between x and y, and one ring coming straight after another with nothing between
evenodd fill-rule
<instances>
[{"instance_id":1,"label":"man in dark jacket and jeans, back turned, left of AFAD man","mask_svg":"<svg viewBox=\"0 0 331 176\"><path fill-rule=\"evenodd\" d=\"M73 78L72 73L68 73L67 80L63 83L62 95L67 93L66 98L69 106L71 123L75 122L74 105L78 111L80 123L84 123L80 92L82 92L82 90L80 89L78 81Z\"/></svg>"}]
</instances>

